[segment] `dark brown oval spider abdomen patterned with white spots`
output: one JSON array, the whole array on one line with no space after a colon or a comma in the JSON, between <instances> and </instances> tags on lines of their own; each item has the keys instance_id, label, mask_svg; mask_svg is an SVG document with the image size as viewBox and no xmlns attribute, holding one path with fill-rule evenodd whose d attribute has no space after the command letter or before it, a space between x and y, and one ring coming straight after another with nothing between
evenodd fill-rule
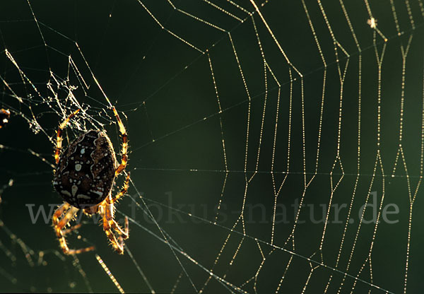
<instances>
[{"instance_id":1,"label":"dark brown oval spider abdomen patterned with white spots","mask_svg":"<svg viewBox=\"0 0 424 294\"><path fill-rule=\"evenodd\" d=\"M116 168L117 160L107 135L87 131L61 154L54 189L72 206L95 206L110 194Z\"/></svg>"}]
</instances>

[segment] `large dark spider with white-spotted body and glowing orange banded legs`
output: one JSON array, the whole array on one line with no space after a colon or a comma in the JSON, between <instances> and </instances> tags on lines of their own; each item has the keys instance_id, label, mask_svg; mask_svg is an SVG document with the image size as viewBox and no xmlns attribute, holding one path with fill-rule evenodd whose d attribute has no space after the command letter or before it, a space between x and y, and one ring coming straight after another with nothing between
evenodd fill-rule
<instances>
[{"instance_id":1,"label":"large dark spider with white-spotted body and glowing orange banded legs","mask_svg":"<svg viewBox=\"0 0 424 294\"><path fill-rule=\"evenodd\" d=\"M80 209L83 209L87 215L100 214L103 229L114 250L119 254L124 254L123 240L129 237L128 218L125 218L124 229L119 227L117 221L114 220L114 203L128 190L129 173L126 176L124 187L116 196L112 196L112 187L117 175L126 167L128 136L117 110L114 107L112 110L122 136L122 160L119 164L112 143L103 131L86 131L78 136L64 152L61 152L62 132L72 117L80 111L79 109L69 115L57 130L56 152L54 153L57 166L53 186L64 199L64 204L54 211L52 225L64 254L80 254L95 249L94 246L69 249L66 244L66 234L81 227L81 224L78 224L65 229Z\"/></svg>"}]
</instances>

